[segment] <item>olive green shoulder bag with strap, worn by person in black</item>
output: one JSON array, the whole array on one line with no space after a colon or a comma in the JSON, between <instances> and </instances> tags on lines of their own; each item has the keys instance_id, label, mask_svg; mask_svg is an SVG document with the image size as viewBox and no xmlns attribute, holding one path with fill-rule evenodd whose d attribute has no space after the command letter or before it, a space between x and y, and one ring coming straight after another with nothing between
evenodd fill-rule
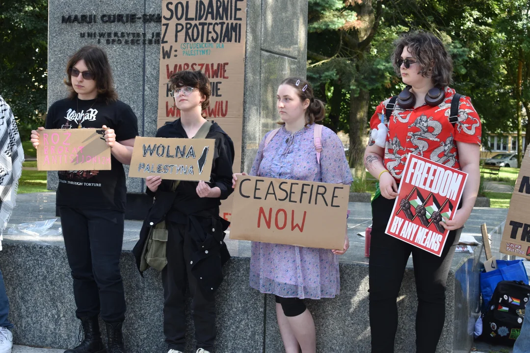
<instances>
[{"instance_id":1,"label":"olive green shoulder bag with strap, worn by person in black","mask_svg":"<svg viewBox=\"0 0 530 353\"><path fill-rule=\"evenodd\" d=\"M211 123L209 121L202 124L193 138L205 139L210 131L210 126ZM171 191L174 192L179 184L180 180L173 182L171 185ZM154 225L154 227L151 227L151 230L149 230L149 235L147 236L147 241L144 244L142 257L140 259L140 271L143 272L149 267L162 271L167 265L166 245L167 229L165 221L162 221Z\"/></svg>"}]
</instances>

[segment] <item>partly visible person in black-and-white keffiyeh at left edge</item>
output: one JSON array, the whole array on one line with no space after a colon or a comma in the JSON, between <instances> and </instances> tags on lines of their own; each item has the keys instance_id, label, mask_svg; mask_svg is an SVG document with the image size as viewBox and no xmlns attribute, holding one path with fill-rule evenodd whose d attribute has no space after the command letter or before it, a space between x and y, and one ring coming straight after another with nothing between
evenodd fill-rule
<instances>
[{"instance_id":1,"label":"partly visible person in black-and-white keffiyeh at left edge","mask_svg":"<svg viewBox=\"0 0 530 353\"><path fill-rule=\"evenodd\" d=\"M23 161L24 151L15 117L11 107L0 96L0 250L2 250L2 232L15 207ZM7 319L8 314L9 301L0 271L0 353L11 353L13 347L11 333L13 324Z\"/></svg>"}]
</instances>

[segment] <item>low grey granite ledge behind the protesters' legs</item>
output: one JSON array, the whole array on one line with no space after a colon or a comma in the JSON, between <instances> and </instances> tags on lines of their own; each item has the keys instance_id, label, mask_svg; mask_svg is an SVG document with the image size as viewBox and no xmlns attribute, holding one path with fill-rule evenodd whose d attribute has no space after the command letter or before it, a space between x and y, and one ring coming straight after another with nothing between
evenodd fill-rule
<instances>
[{"instance_id":1,"label":"low grey granite ledge behind the protesters' legs","mask_svg":"<svg viewBox=\"0 0 530 353\"><path fill-rule=\"evenodd\" d=\"M364 257L364 238L357 236L371 222L369 207L368 203L349 204L351 246L340 257L341 294L333 299L307 301L317 328L318 352L370 350L368 259ZM19 195L10 224L51 219L54 211L54 193ZM493 229L498 220L506 217L506 211L475 209L464 232L479 236L481 223ZM121 258L128 305L124 325L127 347L131 353L166 352L160 275L148 270L144 278L140 277L130 253L140 226L139 221L126 221ZM56 222L52 229L59 227ZM78 320L62 237L11 235L9 228L4 231L0 268L10 298L15 343L53 348L75 346ZM281 352L273 297L249 287L250 242L227 240L227 246L233 258L224 270L225 280L217 294L216 352ZM483 260L482 246L473 248L473 254L455 254L453 260L447 282L446 321L438 345L440 353L467 353L472 347L472 324L479 313L478 273ZM411 260L398 298L400 325L395 351L402 353L415 351L417 299ZM189 352L193 325L188 322Z\"/></svg>"}]
</instances>

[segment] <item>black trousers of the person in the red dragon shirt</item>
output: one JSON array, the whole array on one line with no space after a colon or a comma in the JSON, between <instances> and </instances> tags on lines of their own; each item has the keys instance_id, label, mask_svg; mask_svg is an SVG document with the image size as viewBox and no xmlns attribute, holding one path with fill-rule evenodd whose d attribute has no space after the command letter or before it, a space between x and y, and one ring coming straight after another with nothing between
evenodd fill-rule
<instances>
[{"instance_id":1,"label":"black trousers of the person in the red dragon shirt","mask_svg":"<svg viewBox=\"0 0 530 353\"><path fill-rule=\"evenodd\" d=\"M418 295L416 352L435 353L445 321L445 285L460 231L450 231L441 257L385 234L395 200L372 203L369 309L372 353L392 353L398 329L398 298L412 253ZM458 236L457 236L458 233Z\"/></svg>"}]
</instances>

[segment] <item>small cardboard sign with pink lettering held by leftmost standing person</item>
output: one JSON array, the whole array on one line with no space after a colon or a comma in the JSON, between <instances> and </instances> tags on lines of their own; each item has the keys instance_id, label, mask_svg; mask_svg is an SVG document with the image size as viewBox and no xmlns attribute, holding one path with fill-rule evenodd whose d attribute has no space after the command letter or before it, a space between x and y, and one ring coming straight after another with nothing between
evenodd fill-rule
<instances>
[{"instance_id":1,"label":"small cardboard sign with pink lettering held by leftmost standing person","mask_svg":"<svg viewBox=\"0 0 530 353\"><path fill-rule=\"evenodd\" d=\"M38 170L110 170L110 147L103 129L39 131Z\"/></svg>"}]
</instances>

